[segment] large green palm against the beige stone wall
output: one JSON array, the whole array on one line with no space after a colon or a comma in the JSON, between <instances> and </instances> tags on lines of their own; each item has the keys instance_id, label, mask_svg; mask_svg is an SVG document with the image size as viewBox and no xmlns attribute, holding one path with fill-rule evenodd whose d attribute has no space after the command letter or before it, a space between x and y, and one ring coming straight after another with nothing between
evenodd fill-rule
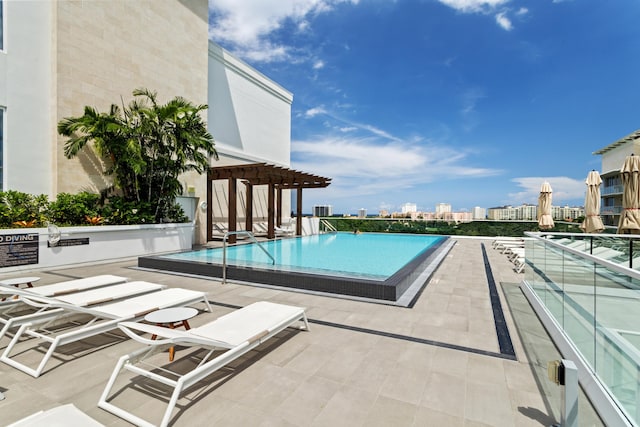
<instances>
[{"instance_id":1,"label":"large green palm against the beige stone wall","mask_svg":"<svg viewBox=\"0 0 640 427\"><path fill-rule=\"evenodd\" d=\"M106 175L126 201L149 202L157 222L171 211L182 193L179 177L188 171L203 173L211 157L217 159L214 140L200 112L181 97L158 104L156 92L133 91L128 106L112 105L108 113L85 107L84 115L65 118L58 132L69 137L64 146L72 158L93 143L105 160Z\"/></svg>"}]
</instances>

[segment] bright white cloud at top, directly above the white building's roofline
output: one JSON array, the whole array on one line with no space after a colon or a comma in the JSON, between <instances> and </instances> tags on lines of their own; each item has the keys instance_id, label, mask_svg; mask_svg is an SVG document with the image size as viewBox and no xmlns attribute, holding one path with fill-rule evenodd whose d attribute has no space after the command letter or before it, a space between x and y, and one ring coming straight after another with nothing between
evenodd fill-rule
<instances>
[{"instance_id":1,"label":"bright white cloud at top, directly above the white building's roofline","mask_svg":"<svg viewBox=\"0 0 640 427\"><path fill-rule=\"evenodd\" d=\"M340 3L358 0L209 0L213 18L209 38L231 43L234 53L254 61L284 60L291 56L289 47L274 44L267 36L285 20L298 31L307 31L307 16L326 13Z\"/></svg>"}]
</instances>

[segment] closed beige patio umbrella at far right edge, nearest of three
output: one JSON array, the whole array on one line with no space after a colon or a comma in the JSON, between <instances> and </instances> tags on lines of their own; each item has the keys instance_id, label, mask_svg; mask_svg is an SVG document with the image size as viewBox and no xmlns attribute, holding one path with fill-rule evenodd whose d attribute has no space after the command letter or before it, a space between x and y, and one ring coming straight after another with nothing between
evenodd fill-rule
<instances>
[{"instance_id":1,"label":"closed beige patio umbrella at far right edge, nearest of three","mask_svg":"<svg viewBox=\"0 0 640 427\"><path fill-rule=\"evenodd\" d=\"M627 156L620 169L622 190L622 212L618 233L640 233L640 157Z\"/></svg>"}]
</instances>

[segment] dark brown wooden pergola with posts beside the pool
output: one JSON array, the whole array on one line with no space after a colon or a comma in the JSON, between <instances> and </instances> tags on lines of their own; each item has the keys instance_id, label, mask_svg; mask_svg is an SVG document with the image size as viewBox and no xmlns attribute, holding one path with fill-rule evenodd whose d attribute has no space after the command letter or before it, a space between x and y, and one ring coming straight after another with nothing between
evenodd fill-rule
<instances>
[{"instance_id":1,"label":"dark brown wooden pergola with posts beside the pool","mask_svg":"<svg viewBox=\"0 0 640 427\"><path fill-rule=\"evenodd\" d=\"M299 172L293 169L252 163L246 165L218 166L209 168L207 174L207 240L213 236L213 181L226 179L229 181L229 224L228 231L237 231L237 189L238 180L246 185L247 214L245 229L253 230L253 187L268 185L267 191L267 238L276 236L276 225L282 224L282 190L297 191L296 235L302 235L302 189L324 188L331 184L331 178ZM276 210L276 195L278 207ZM229 236L229 242L236 241L235 235Z\"/></svg>"}]
</instances>

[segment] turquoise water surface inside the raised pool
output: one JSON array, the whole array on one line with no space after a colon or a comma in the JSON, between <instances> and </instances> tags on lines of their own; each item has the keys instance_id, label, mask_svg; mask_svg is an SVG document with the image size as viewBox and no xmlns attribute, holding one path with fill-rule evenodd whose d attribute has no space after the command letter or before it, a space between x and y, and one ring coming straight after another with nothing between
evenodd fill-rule
<instances>
[{"instance_id":1,"label":"turquoise water surface inside the raised pool","mask_svg":"<svg viewBox=\"0 0 640 427\"><path fill-rule=\"evenodd\" d=\"M333 233L227 247L227 264L332 276L385 280L416 256L443 239L441 236L390 233ZM163 258L222 264L222 248L166 255Z\"/></svg>"}]
</instances>

